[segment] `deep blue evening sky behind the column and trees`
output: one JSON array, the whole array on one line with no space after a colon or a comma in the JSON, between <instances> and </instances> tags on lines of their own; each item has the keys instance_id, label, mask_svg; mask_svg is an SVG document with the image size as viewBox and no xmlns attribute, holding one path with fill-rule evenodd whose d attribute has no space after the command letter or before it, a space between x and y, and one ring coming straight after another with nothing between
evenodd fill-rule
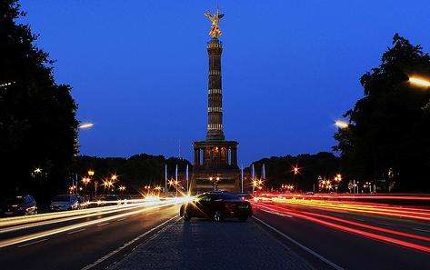
<instances>
[{"instance_id":1,"label":"deep blue evening sky behind the column and trees","mask_svg":"<svg viewBox=\"0 0 430 270\"><path fill-rule=\"evenodd\" d=\"M330 151L333 122L363 95L359 77L395 32L430 48L428 0L218 1L225 13L226 139L239 163ZM192 158L205 138L215 1L25 0L25 23L73 86L81 154Z\"/></svg>"}]
</instances>

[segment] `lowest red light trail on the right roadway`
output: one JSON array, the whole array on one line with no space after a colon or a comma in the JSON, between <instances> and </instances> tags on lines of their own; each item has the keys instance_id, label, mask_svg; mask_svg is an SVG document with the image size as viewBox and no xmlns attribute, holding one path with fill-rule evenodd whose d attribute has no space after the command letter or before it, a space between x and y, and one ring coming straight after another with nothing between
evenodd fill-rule
<instances>
[{"instance_id":1,"label":"lowest red light trail on the right roadway","mask_svg":"<svg viewBox=\"0 0 430 270\"><path fill-rule=\"evenodd\" d=\"M300 212L300 211L289 211L286 210L283 207L280 206L275 206L275 205L266 205L266 204L258 204L258 203L252 203L253 205L257 206L257 207L261 207L270 211L275 211L275 212L281 212L282 214L286 214L286 215L294 215L295 217L299 217L302 219L305 219L307 221L313 222L315 224L319 224L319 225L325 225L327 227L331 227L340 231L345 231L351 234L355 234L355 235L361 235L361 236L365 236L367 238L371 238L371 239L375 239L378 241L383 241L386 243L390 243L390 244L395 244L395 245L402 245L405 247L409 247L409 248L413 248L415 250L420 250L423 251L425 253L430 253L430 247L426 246L426 245L417 245L415 243L412 242L407 242L404 240L400 240L400 239L396 239L390 236L385 236L385 235L378 235L375 233L371 233L371 232L366 232L360 229L356 229L356 228L352 228L352 227L348 227L345 225L339 225L339 224L335 224L333 222L329 222L329 221L325 221L323 219L320 218L316 218L314 216L310 216L308 213L305 212ZM326 218L326 217L325 217ZM383 229L383 228L381 228ZM385 232L387 233L387 232ZM401 232L397 232L397 233L401 233ZM403 235L405 236L405 235Z\"/></svg>"}]
</instances>

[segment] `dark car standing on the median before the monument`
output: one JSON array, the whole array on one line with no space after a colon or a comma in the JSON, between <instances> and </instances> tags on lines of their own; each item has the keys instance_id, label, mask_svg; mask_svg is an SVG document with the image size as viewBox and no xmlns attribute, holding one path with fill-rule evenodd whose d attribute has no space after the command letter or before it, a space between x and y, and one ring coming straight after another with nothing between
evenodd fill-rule
<instances>
[{"instance_id":1,"label":"dark car standing on the median before the monument","mask_svg":"<svg viewBox=\"0 0 430 270\"><path fill-rule=\"evenodd\" d=\"M253 214L251 204L231 193L204 193L198 195L192 202L181 206L179 213L185 221L192 217L210 218L223 221L225 218L237 217L240 221Z\"/></svg>"}]
</instances>

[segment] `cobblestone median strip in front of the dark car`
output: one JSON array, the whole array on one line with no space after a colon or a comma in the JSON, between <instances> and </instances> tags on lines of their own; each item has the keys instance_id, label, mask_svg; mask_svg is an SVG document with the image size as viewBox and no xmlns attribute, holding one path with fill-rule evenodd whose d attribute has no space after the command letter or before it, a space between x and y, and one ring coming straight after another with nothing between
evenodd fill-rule
<instances>
[{"instance_id":1,"label":"cobblestone median strip in front of the dark car","mask_svg":"<svg viewBox=\"0 0 430 270\"><path fill-rule=\"evenodd\" d=\"M114 269L313 269L251 218L182 219L138 246Z\"/></svg>"}]
</instances>

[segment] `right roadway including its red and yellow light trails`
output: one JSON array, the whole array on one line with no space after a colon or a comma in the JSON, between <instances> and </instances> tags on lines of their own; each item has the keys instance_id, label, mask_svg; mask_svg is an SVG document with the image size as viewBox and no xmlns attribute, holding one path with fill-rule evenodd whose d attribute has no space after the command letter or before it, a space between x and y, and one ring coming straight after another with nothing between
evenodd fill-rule
<instances>
[{"instance_id":1,"label":"right roadway including its red and yellow light trails","mask_svg":"<svg viewBox=\"0 0 430 270\"><path fill-rule=\"evenodd\" d=\"M309 262L325 260L345 269L430 269L427 208L308 199L253 206L255 219Z\"/></svg>"}]
</instances>

